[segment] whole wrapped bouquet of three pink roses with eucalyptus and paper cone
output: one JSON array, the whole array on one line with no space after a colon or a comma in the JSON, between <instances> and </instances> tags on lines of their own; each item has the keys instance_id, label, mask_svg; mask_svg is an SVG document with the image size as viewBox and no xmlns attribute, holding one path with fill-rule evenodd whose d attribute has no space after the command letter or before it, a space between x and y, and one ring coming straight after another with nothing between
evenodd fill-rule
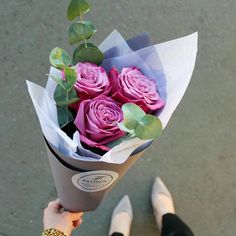
<instances>
[{"instance_id":1,"label":"whole wrapped bouquet of three pink roses with eucalyptus and paper cone","mask_svg":"<svg viewBox=\"0 0 236 236\"><path fill-rule=\"evenodd\" d=\"M54 48L46 88L27 81L64 208L90 211L159 138L193 72L197 34L153 45L148 34L113 31L99 46L83 20L85 0L67 18L73 56Z\"/></svg>"}]
</instances>

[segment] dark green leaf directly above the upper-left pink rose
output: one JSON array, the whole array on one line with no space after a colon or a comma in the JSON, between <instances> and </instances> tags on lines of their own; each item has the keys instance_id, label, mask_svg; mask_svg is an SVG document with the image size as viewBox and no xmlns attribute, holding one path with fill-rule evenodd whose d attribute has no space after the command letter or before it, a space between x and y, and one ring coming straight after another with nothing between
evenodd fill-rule
<instances>
[{"instance_id":1,"label":"dark green leaf directly above the upper-left pink rose","mask_svg":"<svg viewBox=\"0 0 236 236\"><path fill-rule=\"evenodd\" d=\"M91 62L100 65L103 58L103 53L92 43L87 43L87 45L80 44L74 51L73 64L75 65L78 62Z\"/></svg>"}]
</instances>

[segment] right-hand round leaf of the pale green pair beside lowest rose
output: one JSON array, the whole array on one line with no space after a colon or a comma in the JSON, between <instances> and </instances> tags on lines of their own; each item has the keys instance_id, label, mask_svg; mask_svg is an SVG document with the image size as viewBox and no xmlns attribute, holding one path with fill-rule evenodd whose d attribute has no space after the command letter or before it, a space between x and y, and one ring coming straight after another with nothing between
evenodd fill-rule
<instances>
[{"instance_id":1,"label":"right-hand round leaf of the pale green pair beside lowest rose","mask_svg":"<svg viewBox=\"0 0 236 236\"><path fill-rule=\"evenodd\" d=\"M161 121L153 115L145 115L134 129L135 135L143 140L156 139L162 133Z\"/></svg>"}]
</instances>

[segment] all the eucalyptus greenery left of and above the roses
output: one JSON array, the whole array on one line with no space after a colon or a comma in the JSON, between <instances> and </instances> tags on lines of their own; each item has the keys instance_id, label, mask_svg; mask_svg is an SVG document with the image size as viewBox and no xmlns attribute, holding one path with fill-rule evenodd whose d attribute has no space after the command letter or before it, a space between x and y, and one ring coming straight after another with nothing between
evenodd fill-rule
<instances>
[{"instance_id":1,"label":"all the eucalyptus greenery left of and above the roses","mask_svg":"<svg viewBox=\"0 0 236 236\"><path fill-rule=\"evenodd\" d=\"M62 48L54 48L49 56L52 66L63 70L65 81L49 75L57 83L54 99L57 105L58 122L61 127L73 120L68 105L79 100L74 89L76 72L73 66L78 62L90 62L100 65L104 58L103 53L88 40L96 33L97 29L90 21L83 20L83 15L90 11L90 5L86 0L71 0L67 8L67 18L70 21L79 17L72 23L68 30L69 44L79 44L74 50L73 57Z\"/></svg>"}]
</instances>

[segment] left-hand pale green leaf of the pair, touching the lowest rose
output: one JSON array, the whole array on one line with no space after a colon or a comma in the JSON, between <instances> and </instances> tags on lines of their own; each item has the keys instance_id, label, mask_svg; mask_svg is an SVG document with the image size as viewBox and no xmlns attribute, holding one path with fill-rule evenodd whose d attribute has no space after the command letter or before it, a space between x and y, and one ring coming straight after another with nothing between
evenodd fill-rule
<instances>
[{"instance_id":1,"label":"left-hand pale green leaf of the pair, touching the lowest rose","mask_svg":"<svg viewBox=\"0 0 236 236\"><path fill-rule=\"evenodd\" d=\"M139 125L139 121L146 115L139 106L133 103L124 104L122 111L124 113L124 126L130 130L135 129Z\"/></svg>"}]
</instances>

